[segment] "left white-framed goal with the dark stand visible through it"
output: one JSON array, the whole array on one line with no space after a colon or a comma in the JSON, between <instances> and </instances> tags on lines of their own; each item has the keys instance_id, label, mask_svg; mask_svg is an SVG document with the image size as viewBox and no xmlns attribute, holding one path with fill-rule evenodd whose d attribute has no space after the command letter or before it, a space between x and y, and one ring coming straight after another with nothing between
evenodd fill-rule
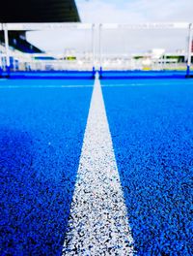
<instances>
[{"instance_id":1,"label":"left white-framed goal with the dark stand visible through it","mask_svg":"<svg viewBox=\"0 0 193 256\"><path fill-rule=\"evenodd\" d=\"M95 73L95 24L4 23L1 26L4 33L4 42L0 45L1 69L7 72L89 71ZM37 44L39 37L40 46Z\"/></svg>"}]
</instances>

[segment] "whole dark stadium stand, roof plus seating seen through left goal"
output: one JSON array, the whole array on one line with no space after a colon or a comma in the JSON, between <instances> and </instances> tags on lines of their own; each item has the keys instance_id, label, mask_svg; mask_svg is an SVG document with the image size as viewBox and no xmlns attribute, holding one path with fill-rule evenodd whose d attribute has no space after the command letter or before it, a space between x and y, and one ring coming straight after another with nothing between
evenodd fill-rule
<instances>
[{"instance_id":1,"label":"whole dark stadium stand, roof plus seating seen through left goal","mask_svg":"<svg viewBox=\"0 0 193 256\"><path fill-rule=\"evenodd\" d=\"M0 23L16 22L76 22L80 21L74 0L9 0L0 9ZM43 53L31 45L25 31L9 31L9 45L27 53ZM0 45L4 32L0 31Z\"/></svg>"}]
</instances>

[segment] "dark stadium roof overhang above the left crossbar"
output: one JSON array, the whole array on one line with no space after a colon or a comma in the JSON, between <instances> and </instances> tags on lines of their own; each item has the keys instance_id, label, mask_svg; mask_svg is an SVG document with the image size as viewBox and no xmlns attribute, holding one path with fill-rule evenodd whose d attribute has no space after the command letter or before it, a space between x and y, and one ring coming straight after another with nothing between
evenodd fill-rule
<instances>
[{"instance_id":1,"label":"dark stadium roof overhang above the left crossbar","mask_svg":"<svg viewBox=\"0 0 193 256\"><path fill-rule=\"evenodd\" d=\"M0 8L0 22L80 21L74 0L6 0Z\"/></svg>"}]
</instances>

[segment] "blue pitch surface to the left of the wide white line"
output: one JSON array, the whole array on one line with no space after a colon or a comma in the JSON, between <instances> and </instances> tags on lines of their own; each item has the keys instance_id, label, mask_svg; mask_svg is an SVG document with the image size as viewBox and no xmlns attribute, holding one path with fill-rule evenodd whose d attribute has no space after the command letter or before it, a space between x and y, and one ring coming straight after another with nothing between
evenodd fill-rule
<instances>
[{"instance_id":1,"label":"blue pitch surface to the left of the wide white line","mask_svg":"<svg viewBox=\"0 0 193 256\"><path fill-rule=\"evenodd\" d=\"M1 255L61 254L92 90L0 80Z\"/></svg>"}]
</instances>

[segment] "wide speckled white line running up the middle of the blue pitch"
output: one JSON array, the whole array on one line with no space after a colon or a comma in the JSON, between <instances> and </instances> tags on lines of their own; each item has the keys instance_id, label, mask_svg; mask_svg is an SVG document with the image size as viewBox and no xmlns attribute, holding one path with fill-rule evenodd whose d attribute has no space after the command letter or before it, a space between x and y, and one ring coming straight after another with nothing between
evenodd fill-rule
<instances>
[{"instance_id":1,"label":"wide speckled white line running up the middle of the blue pitch","mask_svg":"<svg viewBox=\"0 0 193 256\"><path fill-rule=\"evenodd\" d=\"M133 255L124 194L97 78L63 255Z\"/></svg>"}]
</instances>

